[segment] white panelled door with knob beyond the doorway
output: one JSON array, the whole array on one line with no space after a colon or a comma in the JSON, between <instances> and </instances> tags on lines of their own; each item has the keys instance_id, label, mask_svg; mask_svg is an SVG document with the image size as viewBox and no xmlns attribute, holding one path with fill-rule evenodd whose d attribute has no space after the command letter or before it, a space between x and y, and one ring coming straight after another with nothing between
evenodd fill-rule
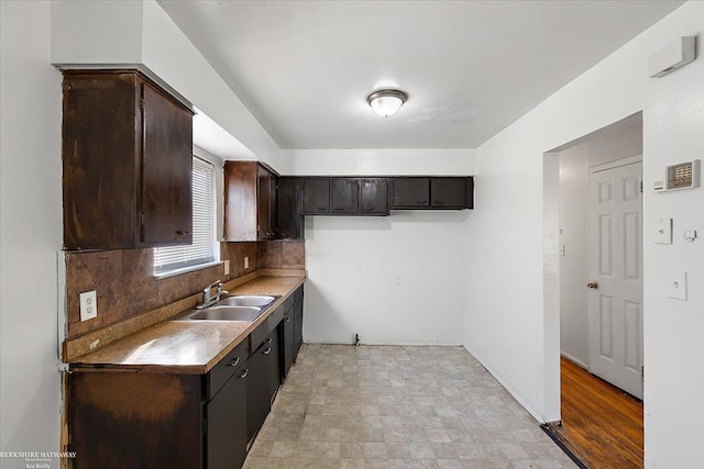
<instances>
[{"instance_id":1,"label":"white panelled door with knob beyond the doorway","mask_svg":"<svg viewBox=\"0 0 704 469\"><path fill-rule=\"evenodd\" d=\"M642 399L641 163L590 175L590 371Z\"/></svg>"}]
</instances>

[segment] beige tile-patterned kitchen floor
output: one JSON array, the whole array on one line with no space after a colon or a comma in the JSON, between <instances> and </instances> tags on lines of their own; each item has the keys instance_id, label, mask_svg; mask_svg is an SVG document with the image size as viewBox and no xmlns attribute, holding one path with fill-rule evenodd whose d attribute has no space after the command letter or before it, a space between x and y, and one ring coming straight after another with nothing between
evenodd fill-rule
<instances>
[{"instance_id":1,"label":"beige tile-patterned kitchen floor","mask_svg":"<svg viewBox=\"0 0 704 469\"><path fill-rule=\"evenodd\" d=\"M304 345L245 468L573 468L461 347Z\"/></svg>"}]
</instances>

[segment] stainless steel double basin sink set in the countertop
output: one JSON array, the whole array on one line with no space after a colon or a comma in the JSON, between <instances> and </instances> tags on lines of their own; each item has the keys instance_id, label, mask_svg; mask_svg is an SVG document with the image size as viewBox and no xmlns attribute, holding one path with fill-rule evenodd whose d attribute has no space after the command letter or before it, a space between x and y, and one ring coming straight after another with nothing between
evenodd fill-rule
<instances>
[{"instance_id":1,"label":"stainless steel double basin sink set in the countertop","mask_svg":"<svg viewBox=\"0 0 704 469\"><path fill-rule=\"evenodd\" d=\"M240 294L224 297L212 306L188 310L170 321L256 321L279 297Z\"/></svg>"}]
</instances>

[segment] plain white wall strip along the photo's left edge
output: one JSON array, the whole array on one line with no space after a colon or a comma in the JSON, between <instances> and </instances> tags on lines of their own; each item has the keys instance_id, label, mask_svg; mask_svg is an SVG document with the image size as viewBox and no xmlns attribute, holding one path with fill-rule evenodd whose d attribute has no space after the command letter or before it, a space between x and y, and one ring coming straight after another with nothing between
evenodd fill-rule
<instances>
[{"instance_id":1,"label":"plain white wall strip along the photo's left edge","mask_svg":"<svg viewBox=\"0 0 704 469\"><path fill-rule=\"evenodd\" d=\"M0 18L0 451L56 451L61 74L48 60L48 2L2 1Z\"/></svg>"}]
</instances>

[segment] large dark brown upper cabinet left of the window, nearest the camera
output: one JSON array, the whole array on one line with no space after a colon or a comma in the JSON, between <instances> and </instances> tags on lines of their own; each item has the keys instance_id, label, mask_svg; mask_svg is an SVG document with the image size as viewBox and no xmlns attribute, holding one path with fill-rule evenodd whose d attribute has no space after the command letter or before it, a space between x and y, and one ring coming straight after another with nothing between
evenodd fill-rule
<instances>
[{"instance_id":1,"label":"large dark brown upper cabinet left of the window, nearest the camera","mask_svg":"<svg viewBox=\"0 0 704 469\"><path fill-rule=\"evenodd\" d=\"M134 70L63 82L65 249L193 239L193 112Z\"/></svg>"}]
</instances>

